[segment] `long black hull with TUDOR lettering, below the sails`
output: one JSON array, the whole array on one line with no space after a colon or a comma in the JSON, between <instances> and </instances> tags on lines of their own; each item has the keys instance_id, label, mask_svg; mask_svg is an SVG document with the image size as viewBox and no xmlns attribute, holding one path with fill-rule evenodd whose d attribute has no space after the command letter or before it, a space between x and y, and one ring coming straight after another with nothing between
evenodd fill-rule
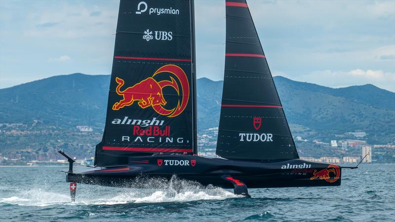
<instances>
[{"instance_id":1,"label":"long black hull with TUDOR lettering, below the sails","mask_svg":"<svg viewBox=\"0 0 395 222\"><path fill-rule=\"evenodd\" d=\"M129 157L127 166L67 173L66 181L90 185L139 187L136 177L196 181L201 185L233 188L224 175L248 188L338 186L341 168L337 165L293 159L278 162L234 161L193 155L153 155Z\"/></svg>"}]
</instances>

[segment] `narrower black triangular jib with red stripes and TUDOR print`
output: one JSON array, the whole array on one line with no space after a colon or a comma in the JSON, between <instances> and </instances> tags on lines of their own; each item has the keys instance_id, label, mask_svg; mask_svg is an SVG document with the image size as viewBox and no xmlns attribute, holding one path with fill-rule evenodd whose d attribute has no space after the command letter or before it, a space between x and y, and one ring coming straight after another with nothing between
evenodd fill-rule
<instances>
[{"instance_id":1,"label":"narrower black triangular jib with red stripes and TUDOR print","mask_svg":"<svg viewBox=\"0 0 395 222\"><path fill-rule=\"evenodd\" d=\"M217 155L299 158L245 0L226 1L226 58Z\"/></svg>"}]
</instances>

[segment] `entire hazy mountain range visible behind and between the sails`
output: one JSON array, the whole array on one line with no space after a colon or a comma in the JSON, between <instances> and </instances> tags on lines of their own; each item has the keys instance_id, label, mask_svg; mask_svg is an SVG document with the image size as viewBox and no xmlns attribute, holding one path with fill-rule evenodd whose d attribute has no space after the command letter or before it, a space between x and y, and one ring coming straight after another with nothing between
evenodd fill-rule
<instances>
[{"instance_id":1,"label":"entire hazy mountain range visible behind and between the sails","mask_svg":"<svg viewBox=\"0 0 395 222\"><path fill-rule=\"evenodd\" d=\"M364 131L370 143L394 141L395 93L370 84L334 89L281 76L274 79L294 136L329 142L345 132ZM64 132L88 125L99 142L109 82L110 75L69 74L0 89L0 123L23 123L29 130L32 125L51 126ZM218 127L222 86L222 81L197 79L199 132Z\"/></svg>"}]
</instances>

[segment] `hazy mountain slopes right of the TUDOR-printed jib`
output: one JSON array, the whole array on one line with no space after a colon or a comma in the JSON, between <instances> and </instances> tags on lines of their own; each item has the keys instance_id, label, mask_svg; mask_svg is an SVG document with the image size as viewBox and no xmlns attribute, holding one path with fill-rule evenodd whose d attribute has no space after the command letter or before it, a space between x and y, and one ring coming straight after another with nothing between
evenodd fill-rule
<instances>
[{"instance_id":1,"label":"hazy mountain slopes right of the TUDOR-printed jib","mask_svg":"<svg viewBox=\"0 0 395 222\"><path fill-rule=\"evenodd\" d=\"M275 82L289 122L308 127L316 139L364 131L372 143L394 141L393 92L371 84L333 89L281 76Z\"/></svg>"}]
</instances>

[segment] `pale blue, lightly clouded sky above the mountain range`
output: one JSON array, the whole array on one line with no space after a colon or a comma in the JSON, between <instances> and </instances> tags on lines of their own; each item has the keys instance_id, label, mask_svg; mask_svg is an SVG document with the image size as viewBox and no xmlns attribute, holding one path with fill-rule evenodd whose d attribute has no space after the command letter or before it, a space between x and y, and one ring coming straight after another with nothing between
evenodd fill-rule
<instances>
[{"instance_id":1,"label":"pale blue, lightly clouded sky above the mountain range","mask_svg":"<svg viewBox=\"0 0 395 222\"><path fill-rule=\"evenodd\" d=\"M395 91L394 0L247 1L273 75ZM118 0L0 0L0 88L111 74ZM224 0L195 0L197 77L222 80Z\"/></svg>"}]
</instances>

